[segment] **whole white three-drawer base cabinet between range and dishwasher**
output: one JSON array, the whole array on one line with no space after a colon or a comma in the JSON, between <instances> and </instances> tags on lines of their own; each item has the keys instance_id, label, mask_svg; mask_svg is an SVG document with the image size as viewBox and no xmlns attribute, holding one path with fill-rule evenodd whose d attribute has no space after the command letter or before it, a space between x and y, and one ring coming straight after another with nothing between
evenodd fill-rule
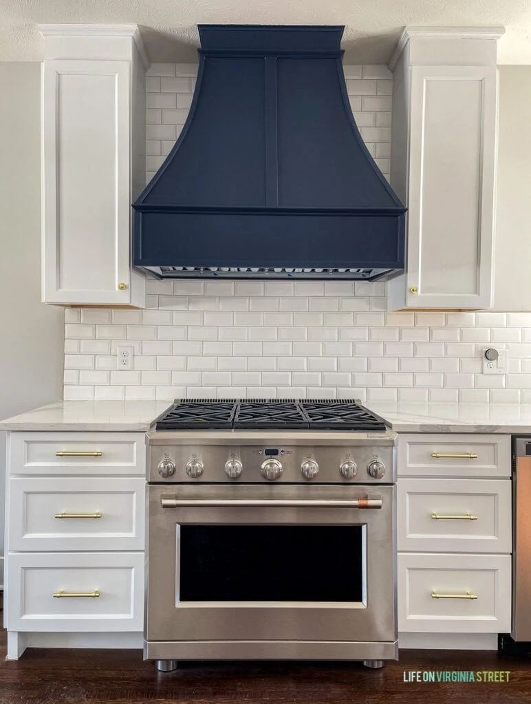
<instances>
[{"instance_id":1,"label":"whole white three-drawer base cabinet between range and dishwasher","mask_svg":"<svg viewBox=\"0 0 531 704\"><path fill-rule=\"evenodd\" d=\"M511 437L401 434L398 457L399 640L511 631Z\"/></svg>"}]
</instances>

